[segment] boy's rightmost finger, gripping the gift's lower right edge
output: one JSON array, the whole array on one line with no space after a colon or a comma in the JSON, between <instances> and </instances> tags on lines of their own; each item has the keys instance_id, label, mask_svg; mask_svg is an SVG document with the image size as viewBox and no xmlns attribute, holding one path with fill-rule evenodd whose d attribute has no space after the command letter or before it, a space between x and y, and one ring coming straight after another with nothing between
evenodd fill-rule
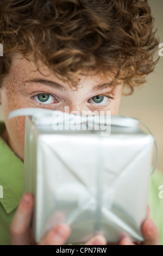
<instances>
[{"instance_id":1,"label":"boy's rightmost finger, gripping the gift's lower right edge","mask_svg":"<svg viewBox=\"0 0 163 256\"><path fill-rule=\"evenodd\" d=\"M147 219L142 227L145 241L143 245L160 245L159 230L152 219Z\"/></svg>"}]
</instances>

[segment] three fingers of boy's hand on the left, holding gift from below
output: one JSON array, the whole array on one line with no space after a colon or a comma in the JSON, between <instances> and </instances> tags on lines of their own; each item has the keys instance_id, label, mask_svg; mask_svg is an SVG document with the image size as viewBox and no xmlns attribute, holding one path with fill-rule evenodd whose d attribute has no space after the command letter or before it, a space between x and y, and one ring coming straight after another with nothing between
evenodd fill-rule
<instances>
[{"instance_id":1,"label":"three fingers of boy's hand on the left, holding gift from below","mask_svg":"<svg viewBox=\"0 0 163 256\"><path fill-rule=\"evenodd\" d=\"M10 226L11 245L35 245L30 222L33 213L34 198L32 194L24 194ZM63 245L71 230L66 224L57 225L43 238L39 245ZM93 237L85 245L106 245L102 235Z\"/></svg>"}]
</instances>

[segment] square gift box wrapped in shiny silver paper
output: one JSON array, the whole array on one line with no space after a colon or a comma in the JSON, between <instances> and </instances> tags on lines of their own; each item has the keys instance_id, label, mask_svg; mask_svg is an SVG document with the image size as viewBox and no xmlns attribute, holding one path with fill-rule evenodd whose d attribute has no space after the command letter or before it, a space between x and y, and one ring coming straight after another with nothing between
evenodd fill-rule
<instances>
[{"instance_id":1,"label":"square gift box wrapped in shiny silver paper","mask_svg":"<svg viewBox=\"0 0 163 256\"><path fill-rule=\"evenodd\" d=\"M99 129L68 130L54 127L49 110L21 115L26 115L24 192L35 197L36 241L59 223L71 227L67 243L84 243L96 234L108 242L126 235L142 241L154 138L139 128L139 120L111 116L102 136L105 121ZM82 120L86 128L89 122Z\"/></svg>"}]
</instances>

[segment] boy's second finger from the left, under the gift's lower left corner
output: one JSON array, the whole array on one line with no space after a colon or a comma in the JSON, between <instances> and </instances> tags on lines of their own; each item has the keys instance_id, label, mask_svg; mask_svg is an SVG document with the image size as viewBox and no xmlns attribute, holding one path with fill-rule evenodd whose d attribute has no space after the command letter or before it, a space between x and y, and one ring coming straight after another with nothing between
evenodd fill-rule
<instances>
[{"instance_id":1,"label":"boy's second finger from the left, under the gift's lower left corner","mask_svg":"<svg viewBox=\"0 0 163 256\"><path fill-rule=\"evenodd\" d=\"M63 245L68 236L70 236L70 233L70 227L68 227L66 224L59 224L54 229L49 231L39 245Z\"/></svg>"}]
</instances>

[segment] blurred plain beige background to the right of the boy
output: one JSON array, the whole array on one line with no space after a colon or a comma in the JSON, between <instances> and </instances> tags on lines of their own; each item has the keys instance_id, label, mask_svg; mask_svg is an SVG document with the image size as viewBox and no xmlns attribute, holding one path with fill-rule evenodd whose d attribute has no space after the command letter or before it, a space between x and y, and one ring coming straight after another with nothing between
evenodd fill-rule
<instances>
[{"instance_id":1,"label":"blurred plain beige background to the right of the boy","mask_svg":"<svg viewBox=\"0 0 163 256\"><path fill-rule=\"evenodd\" d=\"M156 35L163 43L163 1L149 0L152 14L155 17ZM158 51L155 59L159 57ZM162 51L163 52L163 51ZM143 121L155 136L158 145L159 160L157 168L163 172L163 56L156 65L155 72L148 76L147 84L135 89L133 96L122 96L120 104L120 115L139 118ZM0 119L2 113L0 108ZM153 164L154 164L153 159Z\"/></svg>"}]
</instances>

